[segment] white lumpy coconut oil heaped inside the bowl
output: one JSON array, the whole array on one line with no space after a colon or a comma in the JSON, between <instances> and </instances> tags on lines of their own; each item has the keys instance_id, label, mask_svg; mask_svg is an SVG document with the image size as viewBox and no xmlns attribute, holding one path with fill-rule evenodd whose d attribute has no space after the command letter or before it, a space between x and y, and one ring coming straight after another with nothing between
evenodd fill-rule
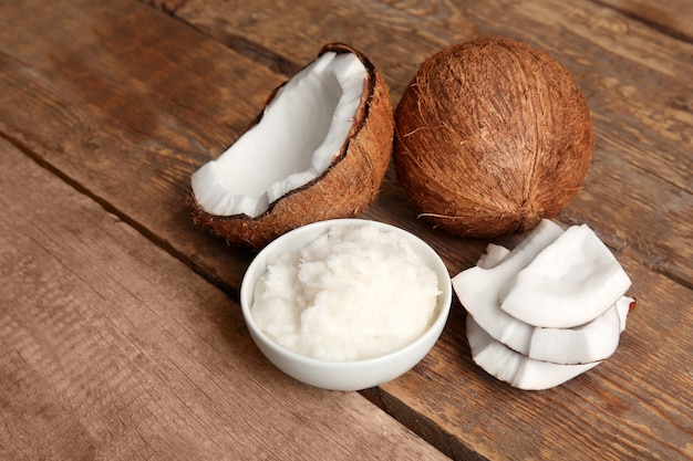
<instances>
[{"instance_id":1,"label":"white lumpy coconut oil heaped inside the bowl","mask_svg":"<svg viewBox=\"0 0 693 461\"><path fill-rule=\"evenodd\" d=\"M250 313L282 347L324 360L373 358L421 336L441 293L435 272L397 232L332 227L271 255Z\"/></svg>"}]
</instances>

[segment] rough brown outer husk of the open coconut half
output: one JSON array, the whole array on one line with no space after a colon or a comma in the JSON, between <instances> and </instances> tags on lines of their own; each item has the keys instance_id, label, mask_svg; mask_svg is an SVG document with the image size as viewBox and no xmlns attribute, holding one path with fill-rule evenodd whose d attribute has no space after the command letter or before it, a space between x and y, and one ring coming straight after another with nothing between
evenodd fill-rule
<instances>
[{"instance_id":1,"label":"rough brown outer husk of the open coconut half","mask_svg":"<svg viewBox=\"0 0 693 461\"><path fill-rule=\"evenodd\" d=\"M320 177L270 203L267 211L256 218L210 214L190 195L188 205L196 223L229 243L260 249L294 228L355 217L375 200L392 155L394 117L390 87L360 51L343 43L329 43L318 55L330 51L355 54L368 72L353 125L330 167ZM279 87L270 94L268 104ZM261 117L262 112L250 127L260 123Z\"/></svg>"}]
</instances>

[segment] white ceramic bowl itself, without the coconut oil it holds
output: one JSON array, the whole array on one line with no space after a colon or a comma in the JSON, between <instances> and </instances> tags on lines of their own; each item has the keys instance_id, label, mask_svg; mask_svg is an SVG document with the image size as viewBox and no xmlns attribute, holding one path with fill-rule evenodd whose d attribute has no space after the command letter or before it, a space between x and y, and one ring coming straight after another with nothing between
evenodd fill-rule
<instances>
[{"instance_id":1,"label":"white ceramic bowl itself, without the coconut oil it holds","mask_svg":"<svg viewBox=\"0 0 693 461\"><path fill-rule=\"evenodd\" d=\"M410 343L399 350L381 357L353 362L328 362L307 357L283 348L260 331L250 314L250 306L252 305L255 285L266 272L268 255L298 250L314 240L318 235L327 232L332 226L348 226L363 222L403 234L410 242L412 249L416 251L437 274L442 293L438 295L435 318L428 329L413 343ZM452 284L449 274L445 268L445 263L428 244L403 229L362 219L335 219L314 222L279 237L260 251L250 263L240 287L240 305L244 317L250 336L262 354L265 354L275 366L292 378L314 387L332 390L365 389L392 380L408 371L428 354L441 336L443 327L447 322L451 302Z\"/></svg>"}]
</instances>

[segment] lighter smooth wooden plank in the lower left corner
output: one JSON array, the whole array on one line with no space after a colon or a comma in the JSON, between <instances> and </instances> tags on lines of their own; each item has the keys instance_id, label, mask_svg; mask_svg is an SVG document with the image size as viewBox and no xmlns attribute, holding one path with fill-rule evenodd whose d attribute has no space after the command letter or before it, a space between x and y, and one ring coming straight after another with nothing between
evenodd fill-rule
<instances>
[{"instance_id":1,"label":"lighter smooth wooden plank in the lower left corner","mask_svg":"<svg viewBox=\"0 0 693 461\"><path fill-rule=\"evenodd\" d=\"M0 185L1 459L444 458L281 374L223 292L3 139Z\"/></svg>"}]
</instances>

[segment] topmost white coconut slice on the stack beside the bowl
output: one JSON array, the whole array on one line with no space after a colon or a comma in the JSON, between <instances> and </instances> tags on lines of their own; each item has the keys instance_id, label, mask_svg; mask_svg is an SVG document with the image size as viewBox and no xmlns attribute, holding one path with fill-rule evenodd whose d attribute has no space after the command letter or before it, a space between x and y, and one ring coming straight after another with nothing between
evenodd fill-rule
<instances>
[{"instance_id":1,"label":"topmost white coconut slice on the stack beside the bowl","mask_svg":"<svg viewBox=\"0 0 693 461\"><path fill-rule=\"evenodd\" d=\"M530 325L570 328L603 314L630 284L594 232L573 226L504 286L500 308Z\"/></svg>"}]
</instances>

